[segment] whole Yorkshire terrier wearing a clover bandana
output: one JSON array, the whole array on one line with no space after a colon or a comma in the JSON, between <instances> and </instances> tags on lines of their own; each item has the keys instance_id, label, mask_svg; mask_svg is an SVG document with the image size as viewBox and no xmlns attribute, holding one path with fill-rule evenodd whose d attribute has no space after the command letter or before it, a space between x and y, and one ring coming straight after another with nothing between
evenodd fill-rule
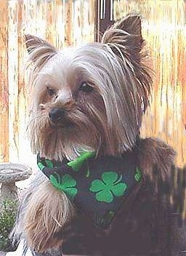
<instances>
[{"instance_id":1,"label":"whole Yorkshire terrier wearing a clover bandana","mask_svg":"<svg viewBox=\"0 0 186 256\"><path fill-rule=\"evenodd\" d=\"M33 255L177 256L186 249L166 191L159 193L174 151L140 138L152 84L141 29L140 16L127 15L101 42L62 51L25 36L28 133L40 171L14 236Z\"/></svg>"}]
</instances>

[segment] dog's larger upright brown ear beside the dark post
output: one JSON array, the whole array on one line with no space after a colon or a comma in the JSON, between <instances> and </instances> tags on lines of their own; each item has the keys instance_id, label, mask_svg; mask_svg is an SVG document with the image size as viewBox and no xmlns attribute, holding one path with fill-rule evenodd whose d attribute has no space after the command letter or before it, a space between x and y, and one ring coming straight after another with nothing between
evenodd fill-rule
<instances>
[{"instance_id":1,"label":"dog's larger upright brown ear beside the dark post","mask_svg":"<svg viewBox=\"0 0 186 256\"><path fill-rule=\"evenodd\" d=\"M143 43L140 16L130 14L116 22L105 31L102 43L115 44L122 52L139 53Z\"/></svg>"}]
</instances>

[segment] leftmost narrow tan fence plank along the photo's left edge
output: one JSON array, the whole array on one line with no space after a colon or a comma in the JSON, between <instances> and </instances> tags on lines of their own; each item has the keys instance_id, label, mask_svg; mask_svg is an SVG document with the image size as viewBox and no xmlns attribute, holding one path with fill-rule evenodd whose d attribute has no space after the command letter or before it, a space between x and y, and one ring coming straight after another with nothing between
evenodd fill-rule
<instances>
[{"instance_id":1,"label":"leftmost narrow tan fence plank along the photo's left edge","mask_svg":"<svg viewBox=\"0 0 186 256\"><path fill-rule=\"evenodd\" d=\"M9 161L8 1L0 2L0 161Z\"/></svg>"}]
</instances>

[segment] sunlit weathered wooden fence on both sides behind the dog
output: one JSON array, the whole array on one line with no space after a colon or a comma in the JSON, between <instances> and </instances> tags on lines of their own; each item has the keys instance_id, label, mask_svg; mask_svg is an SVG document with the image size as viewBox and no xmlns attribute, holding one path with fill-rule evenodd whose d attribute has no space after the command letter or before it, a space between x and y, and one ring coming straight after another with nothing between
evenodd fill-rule
<instances>
[{"instance_id":1,"label":"sunlit weathered wooden fence on both sides behind the dog","mask_svg":"<svg viewBox=\"0 0 186 256\"><path fill-rule=\"evenodd\" d=\"M60 49L94 41L94 4L94 0L0 0L0 161L29 162L32 156L25 139L24 33L46 38ZM185 2L113 1L114 19L128 12L139 12L144 18L142 33L155 70L142 136L160 137L172 145L182 167L186 164Z\"/></svg>"}]
</instances>

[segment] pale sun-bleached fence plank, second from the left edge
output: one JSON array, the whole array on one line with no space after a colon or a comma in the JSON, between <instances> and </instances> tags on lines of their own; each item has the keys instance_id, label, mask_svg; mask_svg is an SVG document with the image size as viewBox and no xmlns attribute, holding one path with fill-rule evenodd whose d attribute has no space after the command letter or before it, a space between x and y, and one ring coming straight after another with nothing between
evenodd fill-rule
<instances>
[{"instance_id":1,"label":"pale sun-bleached fence plank, second from the left edge","mask_svg":"<svg viewBox=\"0 0 186 256\"><path fill-rule=\"evenodd\" d=\"M19 111L18 111L18 44L17 44L17 1L9 1L9 161L18 161Z\"/></svg>"}]
</instances>

